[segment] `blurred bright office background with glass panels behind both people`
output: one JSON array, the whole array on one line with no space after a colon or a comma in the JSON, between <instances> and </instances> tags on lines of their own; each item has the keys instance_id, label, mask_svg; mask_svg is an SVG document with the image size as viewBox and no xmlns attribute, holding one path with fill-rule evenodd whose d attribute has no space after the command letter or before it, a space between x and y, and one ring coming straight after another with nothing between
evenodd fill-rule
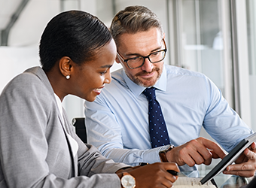
<instances>
[{"instance_id":1,"label":"blurred bright office background with glass panels behind both people","mask_svg":"<svg viewBox=\"0 0 256 188\"><path fill-rule=\"evenodd\" d=\"M0 0L0 92L14 76L40 65L38 44L52 17L82 10L110 26L129 5L144 5L163 23L165 63L200 71L256 130L256 1L254 0ZM120 68L114 63L111 71ZM84 101L63 102L70 120L84 117ZM208 136L202 131L203 136Z\"/></svg>"}]
</instances>

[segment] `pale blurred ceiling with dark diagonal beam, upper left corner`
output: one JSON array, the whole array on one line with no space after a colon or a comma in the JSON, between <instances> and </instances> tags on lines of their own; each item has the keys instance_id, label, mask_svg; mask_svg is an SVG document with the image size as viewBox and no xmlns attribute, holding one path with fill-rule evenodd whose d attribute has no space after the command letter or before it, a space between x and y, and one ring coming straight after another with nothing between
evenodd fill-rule
<instances>
[{"instance_id":1,"label":"pale blurred ceiling with dark diagonal beam, upper left corner","mask_svg":"<svg viewBox=\"0 0 256 188\"><path fill-rule=\"evenodd\" d=\"M0 0L0 46L38 46L47 22L59 13L59 0Z\"/></svg>"}]
</instances>

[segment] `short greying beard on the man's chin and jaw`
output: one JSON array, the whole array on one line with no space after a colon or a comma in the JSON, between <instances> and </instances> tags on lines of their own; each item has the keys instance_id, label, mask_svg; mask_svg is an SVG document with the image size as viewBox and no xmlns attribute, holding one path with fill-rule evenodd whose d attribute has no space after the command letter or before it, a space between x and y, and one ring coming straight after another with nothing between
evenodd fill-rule
<instances>
[{"instance_id":1,"label":"short greying beard on the man's chin and jaw","mask_svg":"<svg viewBox=\"0 0 256 188\"><path fill-rule=\"evenodd\" d=\"M138 78L139 76L142 76L145 74L151 74L154 71L157 71L157 77L154 78L154 80L152 80L152 78L139 80L139 78ZM128 77L130 77L130 79L133 80L133 82L138 84L139 86L149 87L149 86L154 86L154 84L157 83L157 80L160 78L162 72L163 72L163 68L160 69L160 68L156 67L156 68L153 68L151 72L141 71L141 72L135 74L134 76L131 76L130 74L127 74L127 72L126 72L126 75Z\"/></svg>"}]
</instances>

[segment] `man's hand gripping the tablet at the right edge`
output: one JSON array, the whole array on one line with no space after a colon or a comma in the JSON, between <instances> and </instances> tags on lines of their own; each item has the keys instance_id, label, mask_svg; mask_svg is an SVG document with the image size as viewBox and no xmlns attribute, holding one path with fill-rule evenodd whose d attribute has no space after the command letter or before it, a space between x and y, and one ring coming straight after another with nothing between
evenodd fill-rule
<instances>
[{"instance_id":1,"label":"man's hand gripping the tablet at the right edge","mask_svg":"<svg viewBox=\"0 0 256 188\"><path fill-rule=\"evenodd\" d=\"M252 143L249 148L236 159L236 165L227 166L224 174L234 174L242 177L252 177L256 171L256 144Z\"/></svg>"}]
</instances>

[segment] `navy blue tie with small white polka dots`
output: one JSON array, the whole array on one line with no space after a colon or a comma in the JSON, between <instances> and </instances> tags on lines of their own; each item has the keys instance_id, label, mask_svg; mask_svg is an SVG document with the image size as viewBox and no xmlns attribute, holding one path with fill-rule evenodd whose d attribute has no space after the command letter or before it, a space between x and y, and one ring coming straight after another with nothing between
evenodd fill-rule
<instances>
[{"instance_id":1,"label":"navy blue tie with small white polka dots","mask_svg":"<svg viewBox=\"0 0 256 188\"><path fill-rule=\"evenodd\" d=\"M148 124L152 148L170 144L166 123L160 104L156 99L155 89L151 87L142 92L148 99Z\"/></svg>"}]
</instances>

